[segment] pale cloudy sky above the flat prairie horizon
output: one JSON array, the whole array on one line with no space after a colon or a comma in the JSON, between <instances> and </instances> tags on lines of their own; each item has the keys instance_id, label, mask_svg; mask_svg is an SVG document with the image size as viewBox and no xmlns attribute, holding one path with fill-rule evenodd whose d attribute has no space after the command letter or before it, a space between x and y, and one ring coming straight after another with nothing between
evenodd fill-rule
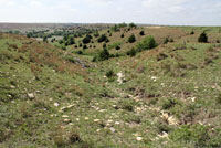
<instances>
[{"instance_id":1,"label":"pale cloudy sky above the flat prairie horizon","mask_svg":"<svg viewBox=\"0 0 221 148\"><path fill-rule=\"evenodd\" d=\"M0 22L221 25L221 0L0 0Z\"/></svg>"}]
</instances>

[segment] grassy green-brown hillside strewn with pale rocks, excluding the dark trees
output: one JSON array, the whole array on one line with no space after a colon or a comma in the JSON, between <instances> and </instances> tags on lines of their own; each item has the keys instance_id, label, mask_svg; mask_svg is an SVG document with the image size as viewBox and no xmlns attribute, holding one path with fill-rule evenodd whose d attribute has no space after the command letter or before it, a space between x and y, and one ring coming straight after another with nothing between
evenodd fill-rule
<instances>
[{"instance_id":1,"label":"grassy green-brown hillside strewn with pale rocks, excluding the dark trees","mask_svg":"<svg viewBox=\"0 0 221 148\"><path fill-rule=\"evenodd\" d=\"M210 43L198 43L203 31ZM90 62L103 49L94 38L96 47L75 54L74 45L64 51L1 34L0 147L219 148L219 31L122 29L106 46L124 55L98 62ZM130 34L135 43L127 42ZM126 54L149 35L157 47ZM116 42L120 50L108 49Z\"/></svg>"}]
</instances>

